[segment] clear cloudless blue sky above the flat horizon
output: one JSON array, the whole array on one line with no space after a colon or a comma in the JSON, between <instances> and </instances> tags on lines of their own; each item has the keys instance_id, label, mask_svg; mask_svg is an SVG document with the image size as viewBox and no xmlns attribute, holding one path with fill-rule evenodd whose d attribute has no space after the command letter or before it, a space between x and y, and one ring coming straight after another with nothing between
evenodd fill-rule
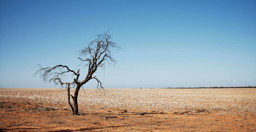
<instances>
[{"instance_id":1,"label":"clear cloudless blue sky above the flat horizon","mask_svg":"<svg viewBox=\"0 0 256 132\"><path fill-rule=\"evenodd\" d=\"M0 87L54 88L36 65L77 70L107 30L123 49L96 73L105 88L256 86L255 0L1 0Z\"/></svg>"}]
</instances>

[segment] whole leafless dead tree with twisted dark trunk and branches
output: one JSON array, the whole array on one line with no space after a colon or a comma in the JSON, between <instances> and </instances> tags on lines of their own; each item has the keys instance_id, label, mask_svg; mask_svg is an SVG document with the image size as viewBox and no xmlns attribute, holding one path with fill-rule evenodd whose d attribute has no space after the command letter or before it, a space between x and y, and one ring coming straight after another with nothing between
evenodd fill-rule
<instances>
[{"instance_id":1,"label":"whole leafless dead tree with twisted dark trunk and branches","mask_svg":"<svg viewBox=\"0 0 256 132\"><path fill-rule=\"evenodd\" d=\"M103 89L102 83L96 76L93 76L95 71L98 68L105 68L105 64L115 64L116 60L112 57L112 52L114 48L121 49L117 46L115 42L112 41L111 38L112 34L109 34L109 32L104 32L102 34L97 34L96 39L91 41L87 47L84 47L83 49L80 49L78 51L79 60L81 60L80 65L82 65L83 62L85 63L85 66L88 67L88 73L85 75L85 77L82 80L79 80L80 77L80 69L75 72L74 70L70 70L68 66L65 65L57 65L54 67L46 67L43 68L40 64L40 69L36 71L36 75L40 75L40 78L43 79L45 82L54 82L55 84L60 84L61 87L63 87L63 84L66 84L66 89L68 92L68 104L73 112L73 115L78 114L78 105L77 105L77 97L78 92L80 88L86 84L89 80L95 79L98 82L97 89ZM81 58L80 58L81 57ZM85 58L85 59L84 59ZM79 66L80 66L79 65ZM66 76L66 73L73 74L72 77L74 79L73 82L62 82L62 77ZM73 105L70 103L70 88L73 86L76 87L74 96L71 95L73 99Z\"/></svg>"}]
</instances>

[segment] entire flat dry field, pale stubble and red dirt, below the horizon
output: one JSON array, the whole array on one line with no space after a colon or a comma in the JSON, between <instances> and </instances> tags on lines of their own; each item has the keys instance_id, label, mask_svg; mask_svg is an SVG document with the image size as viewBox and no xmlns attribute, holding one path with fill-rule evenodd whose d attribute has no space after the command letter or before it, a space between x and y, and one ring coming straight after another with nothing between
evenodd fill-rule
<instances>
[{"instance_id":1,"label":"entire flat dry field, pale stubble and red dirt, below the horizon","mask_svg":"<svg viewBox=\"0 0 256 132\"><path fill-rule=\"evenodd\" d=\"M107 91L1 88L0 131L256 131L256 89Z\"/></svg>"}]
</instances>

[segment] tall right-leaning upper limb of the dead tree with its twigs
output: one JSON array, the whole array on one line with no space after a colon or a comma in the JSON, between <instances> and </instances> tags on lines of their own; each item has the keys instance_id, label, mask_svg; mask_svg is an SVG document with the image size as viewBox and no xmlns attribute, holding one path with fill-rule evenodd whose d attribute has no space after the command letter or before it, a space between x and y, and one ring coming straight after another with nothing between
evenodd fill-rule
<instances>
[{"instance_id":1,"label":"tall right-leaning upper limb of the dead tree with its twigs","mask_svg":"<svg viewBox=\"0 0 256 132\"><path fill-rule=\"evenodd\" d=\"M88 62L85 64L85 66L88 66L88 73L85 79L81 82L82 85L92 79L92 75L98 67L104 69L106 63L115 64L117 62L117 60L112 57L113 53L111 50L113 48L117 48L118 50L122 48L118 47L115 42L111 41L111 35L112 34L109 34L108 31L103 34L97 34L97 39L91 41L88 47L84 47L78 51L78 55L85 57L85 59L81 59L80 57L78 59L82 62Z\"/></svg>"}]
</instances>

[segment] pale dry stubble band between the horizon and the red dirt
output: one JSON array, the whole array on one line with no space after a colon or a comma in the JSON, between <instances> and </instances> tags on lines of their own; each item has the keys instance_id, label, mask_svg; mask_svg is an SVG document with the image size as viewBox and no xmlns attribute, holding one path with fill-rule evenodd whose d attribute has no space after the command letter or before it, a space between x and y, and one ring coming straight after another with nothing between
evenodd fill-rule
<instances>
[{"instance_id":1,"label":"pale dry stubble band between the horizon and the red dirt","mask_svg":"<svg viewBox=\"0 0 256 132\"><path fill-rule=\"evenodd\" d=\"M80 108L116 108L142 111L225 110L256 112L256 89L81 89ZM71 95L74 89L71 90ZM65 89L0 89L0 97L68 104ZM67 106L68 108L68 106Z\"/></svg>"}]
</instances>

